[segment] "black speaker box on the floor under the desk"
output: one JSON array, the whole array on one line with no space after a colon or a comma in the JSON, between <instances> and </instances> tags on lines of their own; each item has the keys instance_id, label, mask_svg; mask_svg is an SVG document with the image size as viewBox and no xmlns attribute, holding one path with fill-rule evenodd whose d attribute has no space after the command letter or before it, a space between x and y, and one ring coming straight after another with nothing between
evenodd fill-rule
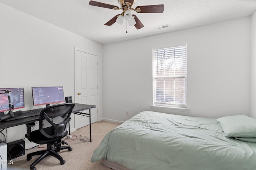
<instances>
[{"instance_id":1,"label":"black speaker box on the floor under the desk","mask_svg":"<svg viewBox=\"0 0 256 170\"><path fill-rule=\"evenodd\" d=\"M17 158L25 154L25 141L20 139L7 143L7 160Z\"/></svg>"}]
</instances>

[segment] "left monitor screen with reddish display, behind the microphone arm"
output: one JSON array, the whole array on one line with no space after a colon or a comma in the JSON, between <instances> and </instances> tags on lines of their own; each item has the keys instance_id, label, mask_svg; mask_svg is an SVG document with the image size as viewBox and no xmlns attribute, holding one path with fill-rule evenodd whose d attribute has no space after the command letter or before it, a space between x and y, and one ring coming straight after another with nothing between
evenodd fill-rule
<instances>
[{"instance_id":1,"label":"left monitor screen with reddish display, behind the microphone arm","mask_svg":"<svg viewBox=\"0 0 256 170\"><path fill-rule=\"evenodd\" d=\"M20 109L25 107L24 105L24 89L23 88L0 88L0 93L10 91L11 105L13 109ZM8 93L0 94L0 112L9 110Z\"/></svg>"}]
</instances>

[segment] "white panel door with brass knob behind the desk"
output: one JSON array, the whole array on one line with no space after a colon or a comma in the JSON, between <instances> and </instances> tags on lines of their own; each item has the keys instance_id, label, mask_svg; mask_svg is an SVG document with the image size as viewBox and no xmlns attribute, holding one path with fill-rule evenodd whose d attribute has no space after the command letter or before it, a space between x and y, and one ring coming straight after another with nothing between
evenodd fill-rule
<instances>
[{"instance_id":1,"label":"white panel door with brass knob behind the desk","mask_svg":"<svg viewBox=\"0 0 256 170\"><path fill-rule=\"evenodd\" d=\"M75 48L75 103L96 105L91 109L91 123L98 121L98 56ZM89 110L83 111L89 113ZM89 125L89 118L75 115L75 129Z\"/></svg>"}]
</instances>

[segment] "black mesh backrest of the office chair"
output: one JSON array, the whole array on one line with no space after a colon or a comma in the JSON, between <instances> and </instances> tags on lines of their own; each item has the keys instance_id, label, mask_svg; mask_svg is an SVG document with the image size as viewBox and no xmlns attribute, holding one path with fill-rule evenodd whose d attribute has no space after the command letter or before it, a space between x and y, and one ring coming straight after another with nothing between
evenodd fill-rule
<instances>
[{"instance_id":1,"label":"black mesh backrest of the office chair","mask_svg":"<svg viewBox=\"0 0 256 170\"><path fill-rule=\"evenodd\" d=\"M67 124L74 106L75 103L64 103L42 109L39 119L40 132L46 138L56 138L64 135L67 132Z\"/></svg>"}]
</instances>

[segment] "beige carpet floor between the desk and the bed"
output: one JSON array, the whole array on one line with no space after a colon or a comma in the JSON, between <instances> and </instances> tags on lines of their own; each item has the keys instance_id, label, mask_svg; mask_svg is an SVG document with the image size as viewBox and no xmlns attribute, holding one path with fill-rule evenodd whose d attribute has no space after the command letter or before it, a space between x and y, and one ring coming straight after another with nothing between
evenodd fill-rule
<instances>
[{"instance_id":1,"label":"beige carpet floor between the desk and the bed","mask_svg":"<svg viewBox=\"0 0 256 170\"><path fill-rule=\"evenodd\" d=\"M117 123L111 123L106 121L100 121L92 124L92 142L82 141L79 138L87 139L90 138L89 126L80 128L75 132L72 132L72 139L64 140L68 142L73 150L62 150L59 154L66 160L66 163L61 165L60 161L53 156L47 156L36 165L37 170L110 170L110 168L101 164L101 161L92 163L91 157L93 151L99 146L103 137L112 129L116 128ZM80 136L83 135L83 136ZM77 136L77 138L76 138ZM84 136L86 136L84 138ZM33 156L31 160L27 160L26 154L35 152L37 150L44 150L46 145L42 145L36 148L28 149L25 151L25 155L13 159L13 164L7 166L7 170L29 170L30 164L38 158Z\"/></svg>"}]
</instances>

